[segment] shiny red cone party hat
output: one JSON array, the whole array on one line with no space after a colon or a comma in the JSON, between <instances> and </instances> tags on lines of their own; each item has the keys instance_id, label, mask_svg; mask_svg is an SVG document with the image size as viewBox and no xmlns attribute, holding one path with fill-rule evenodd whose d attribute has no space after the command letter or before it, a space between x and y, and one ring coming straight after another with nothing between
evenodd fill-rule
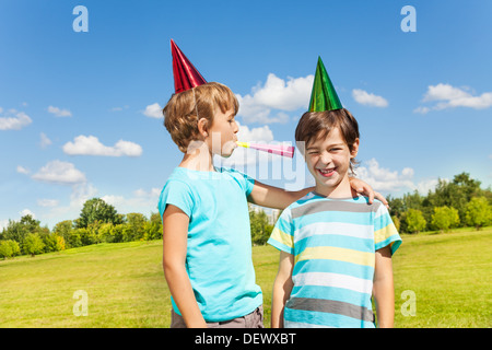
<instances>
[{"instance_id":1,"label":"shiny red cone party hat","mask_svg":"<svg viewBox=\"0 0 492 350\"><path fill-rule=\"evenodd\" d=\"M191 65L173 39L171 39L171 52L173 54L174 90L176 94L207 84L200 72Z\"/></svg>"}]
</instances>

